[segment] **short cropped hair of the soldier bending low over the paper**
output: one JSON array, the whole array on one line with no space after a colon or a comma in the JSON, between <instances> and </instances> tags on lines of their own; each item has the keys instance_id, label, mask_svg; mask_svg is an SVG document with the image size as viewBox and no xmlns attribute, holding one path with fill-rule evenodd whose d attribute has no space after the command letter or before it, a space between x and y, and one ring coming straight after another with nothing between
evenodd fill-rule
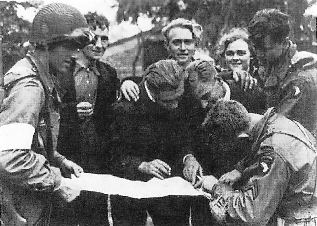
<instances>
[{"instance_id":1,"label":"short cropped hair of the soldier bending low over the paper","mask_svg":"<svg viewBox=\"0 0 317 226\"><path fill-rule=\"evenodd\" d=\"M250 121L247 109L240 102L219 99L208 111L202 125L220 136L233 136L236 132L247 130Z\"/></svg>"}]
</instances>

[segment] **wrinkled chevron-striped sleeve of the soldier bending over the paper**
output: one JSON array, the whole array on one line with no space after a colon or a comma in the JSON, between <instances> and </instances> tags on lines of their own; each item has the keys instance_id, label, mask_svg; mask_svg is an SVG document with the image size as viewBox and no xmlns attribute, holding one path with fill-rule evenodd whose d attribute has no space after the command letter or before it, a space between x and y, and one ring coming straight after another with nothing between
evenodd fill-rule
<instances>
[{"instance_id":1,"label":"wrinkled chevron-striped sleeve of the soldier bending over the paper","mask_svg":"<svg viewBox=\"0 0 317 226\"><path fill-rule=\"evenodd\" d=\"M211 213L225 225L265 225L282 199L291 169L272 149L263 151L258 161L245 169L244 174L251 177L241 190L224 183L213 187Z\"/></svg>"}]
</instances>

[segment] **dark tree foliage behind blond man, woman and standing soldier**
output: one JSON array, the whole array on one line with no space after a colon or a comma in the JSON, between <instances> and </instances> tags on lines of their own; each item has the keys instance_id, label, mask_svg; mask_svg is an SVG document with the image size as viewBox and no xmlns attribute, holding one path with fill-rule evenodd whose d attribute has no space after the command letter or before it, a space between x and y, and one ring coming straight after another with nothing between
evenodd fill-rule
<instances>
[{"instance_id":1,"label":"dark tree foliage behind blond man, woman and standing soldier","mask_svg":"<svg viewBox=\"0 0 317 226\"><path fill-rule=\"evenodd\" d=\"M312 0L310 4L315 2ZM195 20L204 29L201 45L208 48L212 57L215 57L214 46L225 32L233 27L247 26L258 10L277 8L290 15L290 38L298 44L298 49L316 53L316 47L312 48L310 21L303 16L309 6L306 0L119 0L119 3L118 21L128 17L136 21L139 13L152 16L154 24L160 28L165 22L163 17ZM157 18L160 23L156 23Z\"/></svg>"}]
</instances>

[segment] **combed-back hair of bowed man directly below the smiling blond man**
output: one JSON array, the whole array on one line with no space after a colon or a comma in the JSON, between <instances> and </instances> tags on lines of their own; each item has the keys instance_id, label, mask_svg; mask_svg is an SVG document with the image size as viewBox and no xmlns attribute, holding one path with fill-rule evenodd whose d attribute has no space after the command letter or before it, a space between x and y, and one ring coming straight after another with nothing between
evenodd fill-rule
<instances>
[{"instance_id":1,"label":"combed-back hair of bowed man directly below the smiling blond man","mask_svg":"<svg viewBox=\"0 0 317 226\"><path fill-rule=\"evenodd\" d=\"M151 91L173 91L184 81L184 69L175 60L159 60L145 71L145 81Z\"/></svg>"}]
</instances>

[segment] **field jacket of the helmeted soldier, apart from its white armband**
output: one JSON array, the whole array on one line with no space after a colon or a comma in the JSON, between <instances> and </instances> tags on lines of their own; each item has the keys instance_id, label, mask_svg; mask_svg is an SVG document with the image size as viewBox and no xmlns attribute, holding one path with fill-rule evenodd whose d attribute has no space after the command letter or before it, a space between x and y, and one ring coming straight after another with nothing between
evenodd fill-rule
<instances>
[{"instance_id":1,"label":"field jacket of the helmeted soldier, apart from its white armband","mask_svg":"<svg viewBox=\"0 0 317 226\"><path fill-rule=\"evenodd\" d=\"M7 96L0 109L0 127L24 123L34 127L35 133L31 149L0 152L1 190L11 187L11 194L15 198L20 197L16 200L20 204L29 200L31 212L39 216L42 210L36 209L58 189L61 181L60 170L52 167L48 159L58 167L65 158L56 152L59 97L52 76L32 55L18 61L6 73L4 80ZM22 208L20 204L16 206ZM28 225L38 220L27 209L18 212L28 220Z\"/></svg>"}]
</instances>

